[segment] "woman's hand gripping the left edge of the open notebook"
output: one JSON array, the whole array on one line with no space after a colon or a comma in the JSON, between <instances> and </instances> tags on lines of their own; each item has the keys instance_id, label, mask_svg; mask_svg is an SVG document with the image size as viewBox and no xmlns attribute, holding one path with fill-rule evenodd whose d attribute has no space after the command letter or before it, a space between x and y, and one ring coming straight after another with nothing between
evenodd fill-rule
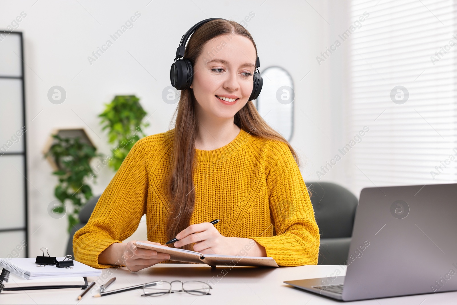
<instances>
[{"instance_id":1,"label":"woman's hand gripping the left edge of the open notebook","mask_svg":"<svg viewBox=\"0 0 457 305\"><path fill-rule=\"evenodd\" d=\"M129 241L125 243L123 251L121 252L121 257L123 265L127 267L130 271L138 271L144 268L148 268L152 265L155 265L159 262L166 261L170 258L170 254L157 252L151 249L138 248L133 243L135 241ZM141 241L151 245L160 245L158 242L152 241Z\"/></svg>"}]
</instances>

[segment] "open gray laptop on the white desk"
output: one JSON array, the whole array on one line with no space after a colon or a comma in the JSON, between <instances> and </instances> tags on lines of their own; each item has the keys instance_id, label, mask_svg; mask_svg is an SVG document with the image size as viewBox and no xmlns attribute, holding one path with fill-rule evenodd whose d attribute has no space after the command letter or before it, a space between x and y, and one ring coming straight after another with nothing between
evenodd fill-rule
<instances>
[{"instance_id":1,"label":"open gray laptop on the white desk","mask_svg":"<svg viewBox=\"0 0 457 305\"><path fill-rule=\"evenodd\" d=\"M457 183L363 188L345 265L284 283L343 301L457 290Z\"/></svg>"}]
</instances>

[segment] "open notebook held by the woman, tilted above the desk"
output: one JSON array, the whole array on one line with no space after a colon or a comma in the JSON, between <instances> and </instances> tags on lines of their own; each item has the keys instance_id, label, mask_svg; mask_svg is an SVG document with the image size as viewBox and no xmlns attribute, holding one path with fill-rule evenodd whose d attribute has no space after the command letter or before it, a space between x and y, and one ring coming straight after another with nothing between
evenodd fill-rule
<instances>
[{"instance_id":1,"label":"open notebook held by the woman, tilted above the desk","mask_svg":"<svg viewBox=\"0 0 457 305\"><path fill-rule=\"evenodd\" d=\"M203 254L196 251L157 246L141 241L135 241L138 248L151 249L162 253L170 254L170 260L178 262L196 262L210 266L229 265L231 266L258 266L258 267L279 267L273 257L243 257L222 254Z\"/></svg>"}]
</instances>

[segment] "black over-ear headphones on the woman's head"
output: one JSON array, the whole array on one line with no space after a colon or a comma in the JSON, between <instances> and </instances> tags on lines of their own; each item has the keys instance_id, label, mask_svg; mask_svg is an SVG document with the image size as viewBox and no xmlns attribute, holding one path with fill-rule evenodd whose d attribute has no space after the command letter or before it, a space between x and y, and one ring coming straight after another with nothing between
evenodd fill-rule
<instances>
[{"instance_id":1,"label":"black over-ear headphones on the woman's head","mask_svg":"<svg viewBox=\"0 0 457 305\"><path fill-rule=\"evenodd\" d=\"M176 49L175 62L171 64L170 69L171 86L175 87L177 90L185 90L189 88L192 84L192 76L194 74L191 61L189 59L183 58L184 53L186 51L187 39L189 39L191 34L195 30L197 30L197 28L199 28L202 24L214 19L227 20L223 18L208 18L202 20L193 27L191 27L189 31L187 31L186 34L182 36L181 43L179 44L179 47ZM260 91L262 90L263 79L260 77L259 67L260 59L257 57L257 60L255 61L256 71L254 71L254 85L248 101L255 100L259 96Z\"/></svg>"}]
</instances>

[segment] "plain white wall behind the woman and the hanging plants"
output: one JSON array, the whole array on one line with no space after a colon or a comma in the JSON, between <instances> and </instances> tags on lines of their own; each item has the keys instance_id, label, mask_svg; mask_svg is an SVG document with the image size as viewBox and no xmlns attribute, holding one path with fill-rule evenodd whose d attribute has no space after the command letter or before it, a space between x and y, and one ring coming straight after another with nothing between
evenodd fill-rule
<instances>
[{"instance_id":1,"label":"plain white wall behind the woman and the hanging plants","mask_svg":"<svg viewBox=\"0 0 457 305\"><path fill-rule=\"evenodd\" d=\"M0 28L6 28L22 11L27 13L16 31L24 34L27 64L29 256L41 253L39 248L43 246L52 255L63 255L68 239L66 216L53 219L47 212L48 204L55 200L57 183L42 154L51 130L83 127L99 151L109 153L97 115L103 111L104 103L119 94L135 94L149 114L155 112L149 118L151 125L146 134L168 130L176 104L163 102L161 92L170 85L170 64L176 47L192 25L209 17L240 22L251 11L255 13L247 29L257 44L260 70L278 65L292 75L296 111L291 143L306 161L303 178L316 181L315 171L334 155L341 133L338 116L342 100L332 86L343 75L331 75L342 54L332 55L320 66L316 62L316 56L333 41L331 35L335 33L330 35L331 28L342 22L338 18L344 19L333 2L2 0ZM87 57L137 11L141 16L133 28L90 64ZM67 93L59 105L47 98L49 88L56 85ZM335 180L339 172L335 168L323 180ZM102 193L113 175L111 169L103 169L93 192Z\"/></svg>"}]
</instances>

